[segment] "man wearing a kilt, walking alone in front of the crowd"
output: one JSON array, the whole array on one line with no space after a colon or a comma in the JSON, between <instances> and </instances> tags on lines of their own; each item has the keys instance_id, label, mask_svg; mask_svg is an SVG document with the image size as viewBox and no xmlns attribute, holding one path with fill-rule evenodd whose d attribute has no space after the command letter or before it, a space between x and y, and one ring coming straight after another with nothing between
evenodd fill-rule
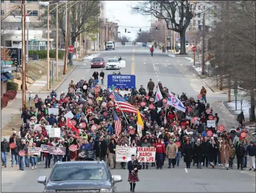
<instances>
[{"instance_id":1,"label":"man wearing a kilt, walking alone in front of the crowd","mask_svg":"<svg viewBox=\"0 0 256 193\"><path fill-rule=\"evenodd\" d=\"M132 154L132 160L128 161L128 170L129 170L129 176L128 181L130 182L130 191L134 192L136 181L139 181L138 178L138 169L139 169L139 162L135 160L135 155Z\"/></svg>"}]
</instances>

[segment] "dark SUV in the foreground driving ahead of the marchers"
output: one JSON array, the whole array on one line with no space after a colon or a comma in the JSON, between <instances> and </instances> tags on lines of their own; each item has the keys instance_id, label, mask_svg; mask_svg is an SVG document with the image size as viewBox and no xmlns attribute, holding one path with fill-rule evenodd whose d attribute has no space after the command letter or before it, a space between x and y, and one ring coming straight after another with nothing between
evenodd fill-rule
<instances>
[{"instance_id":1,"label":"dark SUV in the foreground driving ahead of the marchers","mask_svg":"<svg viewBox=\"0 0 256 193\"><path fill-rule=\"evenodd\" d=\"M48 180L46 176L37 180L44 192L115 192L119 181L121 176L112 176L104 161L59 161Z\"/></svg>"}]
</instances>

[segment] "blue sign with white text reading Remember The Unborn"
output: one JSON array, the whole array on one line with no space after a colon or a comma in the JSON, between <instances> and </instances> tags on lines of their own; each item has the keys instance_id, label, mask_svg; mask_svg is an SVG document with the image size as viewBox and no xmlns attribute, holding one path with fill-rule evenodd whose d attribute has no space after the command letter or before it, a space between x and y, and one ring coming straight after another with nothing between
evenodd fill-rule
<instances>
[{"instance_id":1,"label":"blue sign with white text reading Remember The Unborn","mask_svg":"<svg viewBox=\"0 0 256 193\"><path fill-rule=\"evenodd\" d=\"M135 75L108 75L108 88L134 89Z\"/></svg>"}]
</instances>

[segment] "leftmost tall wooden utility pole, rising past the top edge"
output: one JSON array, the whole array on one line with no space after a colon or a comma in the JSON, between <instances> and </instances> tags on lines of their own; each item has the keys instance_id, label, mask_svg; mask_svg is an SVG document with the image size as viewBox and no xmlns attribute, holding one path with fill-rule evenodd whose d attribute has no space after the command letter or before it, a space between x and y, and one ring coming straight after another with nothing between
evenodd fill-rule
<instances>
[{"instance_id":1,"label":"leftmost tall wooden utility pole, rising past the top edge","mask_svg":"<svg viewBox=\"0 0 256 193\"><path fill-rule=\"evenodd\" d=\"M26 33L26 1L22 1L22 110L26 108L26 54L25 54L25 33Z\"/></svg>"}]
</instances>

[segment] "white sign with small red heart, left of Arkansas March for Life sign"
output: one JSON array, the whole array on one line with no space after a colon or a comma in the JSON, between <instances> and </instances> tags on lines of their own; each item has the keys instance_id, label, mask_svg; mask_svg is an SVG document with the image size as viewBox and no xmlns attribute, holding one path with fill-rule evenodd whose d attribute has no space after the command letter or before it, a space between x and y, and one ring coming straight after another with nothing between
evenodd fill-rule
<instances>
[{"instance_id":1,"label":"white sign with small red heart, left of Arkansas March for Life sign","mask_svg":"<svg viewBox=\"0 0 256 193\"><path fill-rule=\"evenodd\" d=\"M132 154L136 154L136 147L121 147L115 149L115 160L117 162L128 162L131 160Z\"/></svg>"}]
</instances>

